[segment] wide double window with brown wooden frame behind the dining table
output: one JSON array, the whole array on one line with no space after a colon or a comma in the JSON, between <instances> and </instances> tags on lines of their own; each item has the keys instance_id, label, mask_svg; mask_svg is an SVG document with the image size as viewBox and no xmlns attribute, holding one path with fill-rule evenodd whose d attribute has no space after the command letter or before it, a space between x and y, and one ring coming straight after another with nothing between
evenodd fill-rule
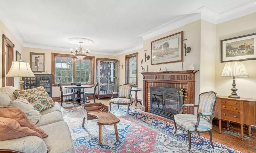
<instances>
[{"instance_id":1,"label":"wide double window with brown wooden frame behind the dining table","mask_svg":"<svg viewBox=\"0 0 256 153\"><path fill-rule=\"evenodd\" d=\"M74 55L52 53L53 85L57 83L70 85L71 82L94 84L94 56L83 60Z\"/></svg>"}]
</instances>

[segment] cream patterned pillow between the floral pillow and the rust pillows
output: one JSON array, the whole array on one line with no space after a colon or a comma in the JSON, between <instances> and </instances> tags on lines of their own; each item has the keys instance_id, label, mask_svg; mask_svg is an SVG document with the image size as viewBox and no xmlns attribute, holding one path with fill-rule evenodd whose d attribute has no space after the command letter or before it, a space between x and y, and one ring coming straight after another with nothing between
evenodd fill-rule
<instances>
[{"instance_id":1,"label":"cream patterned pillow between the floral pillow and the rust pillows","mask_svg":"<svg viewBox=\"0 0 256 153\"><path fill-rule=\"evenodd\" d=\"M11 101L10 106L19 107L26 113L28 119L34 124L37 124L40 119L41 114L26 99L19 98Z\"/></svg>"}]
</instances>

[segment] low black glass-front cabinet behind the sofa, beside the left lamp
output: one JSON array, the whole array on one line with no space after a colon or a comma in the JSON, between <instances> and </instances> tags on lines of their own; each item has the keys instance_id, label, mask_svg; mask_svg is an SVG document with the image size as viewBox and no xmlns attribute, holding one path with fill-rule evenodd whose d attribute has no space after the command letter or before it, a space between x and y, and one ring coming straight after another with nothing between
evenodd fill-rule
<instances>
[{"instance_id":1,"label":"low black glass-front cabinet behind the sofa, beside the left lamp","mask_svg":"<svg viewBox=\"0 0 256 153\"><path fill-rule=\"evenodd\" d=\"M35 77L23 77L23 89L33 89L43 86L45 91L52 97L52 74L34 74Z\"/></svg>"}]
</instances>

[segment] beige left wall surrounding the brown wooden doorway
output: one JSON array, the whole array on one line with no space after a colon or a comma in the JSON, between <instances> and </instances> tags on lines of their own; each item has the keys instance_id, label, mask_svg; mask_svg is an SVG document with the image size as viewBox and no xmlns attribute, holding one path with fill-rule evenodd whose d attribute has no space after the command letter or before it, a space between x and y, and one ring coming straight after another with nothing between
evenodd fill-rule
<instances>
[{"instance_id":1,"label":"beige left wall surrounding the brown wooden doorway","mask_svg":"<svg viewBox=\"0 0 256 153\"><path fill-rule=\"evenodd\" d=\"M2 79L3 79L2 78L2 72L3 72L3 70L2 70L2 61L3 61L3 59L2 59L2 56L3 56L3 52L2 52L2 50L3 50L3 48L2 48L2 46L3 46L2 35L5 34L6 37L8 39L10 39L12 41L12 43L15 45L14 46L14 60L16 60L15 59L16 58L15 57L16 50L22 54L22 60L23 60L24 56L23 56L23 52L22 52L23 46L13 36L13 34L8 30L8 28L3 24L3 22L1 20L0 20L0 33L1 33L1 41L0 41L0 46L1 46L0 47L0 63L1 63L1 66L0 66L0 87L2 87L3 86L3 84L2 84L2 82L3 82L2 81ZM19 88L19 77L14 77L14 87Z\"/></svg>"}]
</instances>

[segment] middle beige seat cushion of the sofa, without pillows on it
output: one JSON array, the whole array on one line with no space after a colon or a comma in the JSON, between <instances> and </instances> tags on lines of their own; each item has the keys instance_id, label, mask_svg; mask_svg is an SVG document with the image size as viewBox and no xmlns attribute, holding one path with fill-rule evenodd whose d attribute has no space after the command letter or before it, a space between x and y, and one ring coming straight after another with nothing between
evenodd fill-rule
<instances>
[{"instance_id":1,"label":"middle beige seat cushion of the sofa, without pillows on it","mask_svg":"<svg viewBox=\"0 0 256 153\"><path fill-rule=\"evenodd\" d=\"M44 126L44 125L56 123L59 121L64 121L62 113L59 111L54 111L51 113L41 115L40 120L37 123L37 126Z\"/></svg>"}]
</instances>

